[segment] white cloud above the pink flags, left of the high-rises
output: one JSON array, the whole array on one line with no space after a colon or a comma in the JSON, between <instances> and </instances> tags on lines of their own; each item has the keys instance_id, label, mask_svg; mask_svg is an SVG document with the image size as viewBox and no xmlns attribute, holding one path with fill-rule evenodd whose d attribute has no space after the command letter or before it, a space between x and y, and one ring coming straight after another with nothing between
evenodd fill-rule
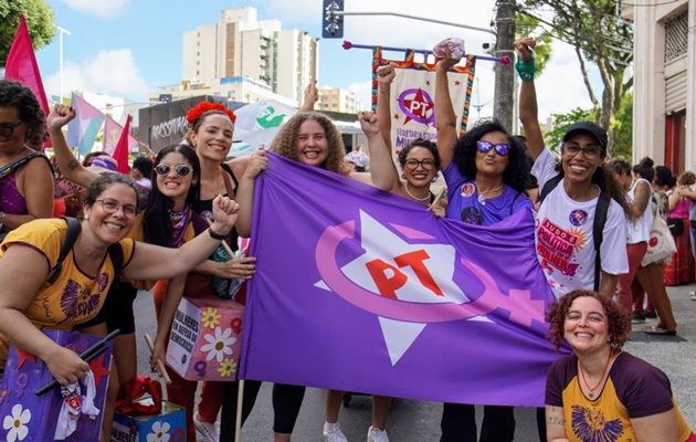
<instances>
[{"instance_id":1,"label":"white cloud above the pink flags, left of the high-rises","mask_svg":"<svg viewBox=\"0 0 696 442\"><path fill-rule=\"evenodd\" d=\"M59 95L60 72L49 75L44 84L49 95ZM92 92L134 99L147 101L150 91L129 49L99 51L82 63L65 62L63 65L63 94L70 91Z\"/></svg>"}]
</instances>

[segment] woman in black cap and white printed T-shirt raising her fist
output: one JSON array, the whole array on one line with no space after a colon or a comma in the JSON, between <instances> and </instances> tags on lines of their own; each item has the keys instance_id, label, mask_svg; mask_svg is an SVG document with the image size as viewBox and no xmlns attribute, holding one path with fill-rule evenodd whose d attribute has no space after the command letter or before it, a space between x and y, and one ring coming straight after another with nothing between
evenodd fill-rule
<instances>
[{"instance_id":1,"label":"woman in black cap and white printed T-shirt raising her fist","mask_svg":"<svg viewBox=\"0 0 696 442\"><path fill-rule=\"evenodd\" d=\"M611 299L619 275L629 272L625 213L631 213L630 208L623 190L603 167L607 158L603 128L590 122L571 125L563 136L560 162L545 147L534 84L535 45L536 41L528 38L515 42L519 53L515 67L523 80L519 119L535 160L531 173L538 178L541 189L536 223L539 262L557 299L580 288L594 290ZM544 194L545 185L550 181L557 185ZM593 225L600 198L608 198L609 203L600 244L601 269L595 272ZM546 441L541 408L537 412L537 427L539 439Z\"/></svg>"}]
</instances>

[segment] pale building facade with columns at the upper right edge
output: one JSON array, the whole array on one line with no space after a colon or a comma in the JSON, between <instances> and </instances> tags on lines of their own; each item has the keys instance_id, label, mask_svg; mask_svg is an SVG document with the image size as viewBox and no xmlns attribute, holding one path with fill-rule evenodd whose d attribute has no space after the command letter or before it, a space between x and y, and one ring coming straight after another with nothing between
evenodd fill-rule
<instances>
[{"instance_id":1,"label":"pale building facade with columns at the upper right edge","mask_svg":"<svg viewBox=\"0 0 696 442\"><path fill-rule=\"evenodd\" d=\"M633 159L696 170L696 0L625 6L634 23Z\"/></svg>"}]
</instances>

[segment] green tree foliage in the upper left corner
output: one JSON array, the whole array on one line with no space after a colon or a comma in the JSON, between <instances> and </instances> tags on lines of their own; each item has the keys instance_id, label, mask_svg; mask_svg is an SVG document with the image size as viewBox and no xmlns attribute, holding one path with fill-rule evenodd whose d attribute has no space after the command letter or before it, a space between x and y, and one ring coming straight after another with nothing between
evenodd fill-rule
<instances>
[{"instance_id":1,"label":"green tree foliage in the upper left corner","mask_svg":"<svg viewBox=\"0 0 696 442\"><path fill-rule=\"evenodd\" d=\"M27 18L34 49L45 46L55 36L53 9L44 0L0 0L0 66L8 60L20 14Z\"/></svg>"}]
</instances>

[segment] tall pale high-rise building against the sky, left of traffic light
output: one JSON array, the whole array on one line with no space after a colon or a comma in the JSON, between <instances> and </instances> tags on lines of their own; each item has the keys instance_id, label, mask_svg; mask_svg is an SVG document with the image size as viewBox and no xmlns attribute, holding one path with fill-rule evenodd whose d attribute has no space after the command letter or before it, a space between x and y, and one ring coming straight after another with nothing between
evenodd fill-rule
<instances>
[{"instance_id":1,"label":"tall pale high-rise building against the sky, left of traffic light","mask_svg":"<svg viewBox=\"0 0 696 442\"><path fill-rule=\"evenodd\" d=\"M318 39L283 30L277 20L260 21L252 7L222 10L217 24L183 34L182 78L191 83L245 77L298 106L317 66Z\"/></svg>"}]
</instances>

